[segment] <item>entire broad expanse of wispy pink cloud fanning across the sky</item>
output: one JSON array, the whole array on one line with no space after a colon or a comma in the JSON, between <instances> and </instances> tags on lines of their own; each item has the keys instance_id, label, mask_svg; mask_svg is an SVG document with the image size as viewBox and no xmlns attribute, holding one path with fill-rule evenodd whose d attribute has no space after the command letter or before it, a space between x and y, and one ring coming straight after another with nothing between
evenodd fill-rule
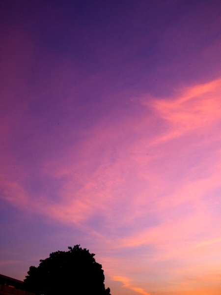
<instances>
[{"instance_id":1,"label":"entire broad expanse of wispy pink cloud fanning across the sky","mask_svg":"<svg viewBox=\"0 0 221 295\"><path fill-rule=\"evenodd\" d=\"M195 271L205 278L202 260L217 283L219 267L210 253L220 260L220 232L214 225L221 220L208 205L221 187L220 94L221 80L216 80L169 98L144 96L137 100L142 116L111 120L111 114L86 130L78 144L67 145L60 157L42 158L40 177L60 181L57 200L44 192L33 197L25 169L10 175L2 167L4 199L85 231L100 245L108 276L131 291L146 295L154 284L174 285L171 294L191 295L194 284L184 277ZM13 163L9 152L6 156ZM128 256L117 255L138 249L131 265ZM145 275L135 274L139 271ZM156 281L146 279L151 273ZM178 285L183 291L176 291ZM201 285L197 288L194 294L202 291ZM166 292L159 287L159 294Z\"/></svg>"}]
</instances>

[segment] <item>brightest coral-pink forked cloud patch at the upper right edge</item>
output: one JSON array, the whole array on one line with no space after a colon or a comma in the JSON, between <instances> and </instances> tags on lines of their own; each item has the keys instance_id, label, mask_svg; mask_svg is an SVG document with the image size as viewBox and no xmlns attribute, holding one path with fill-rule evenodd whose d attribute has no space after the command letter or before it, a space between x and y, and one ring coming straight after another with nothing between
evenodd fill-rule
<instances>
[{"instance_id":1,"label":"brightest coral-pink forked cloud patch at the upper right edge","mask_svg":"<svg viewBox=\"0 0 221 295\"><path fill-rule=\"evenodd\" d=\"M151 144L160 144L173 138L184 136L188 132L201 134L220 123L221 80L177 91L176 97L162 100L143 97L140 102L151 107L156 116L169 123L169 130ZM151 103L150 103L151 99Z\"/></svg>"}]
</instances>

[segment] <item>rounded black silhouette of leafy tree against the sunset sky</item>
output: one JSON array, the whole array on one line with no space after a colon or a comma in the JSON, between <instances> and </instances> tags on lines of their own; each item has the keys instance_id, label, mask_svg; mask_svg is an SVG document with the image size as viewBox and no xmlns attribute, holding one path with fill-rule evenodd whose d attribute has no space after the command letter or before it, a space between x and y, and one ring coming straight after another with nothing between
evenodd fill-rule
<instances>
[{"instance_id":1,"label":"rounded black silhouette of leafy tree against the sunset sky","mask_svg":"<svg viewBox=\"0 0 221 295\"><path fill-rule=\"evenodd\" d=\"M30 266L24 287L37 295L111 295L95 254L80 245L68 249L51 253L38 267Z\"/></svg>"}]
</instances>

